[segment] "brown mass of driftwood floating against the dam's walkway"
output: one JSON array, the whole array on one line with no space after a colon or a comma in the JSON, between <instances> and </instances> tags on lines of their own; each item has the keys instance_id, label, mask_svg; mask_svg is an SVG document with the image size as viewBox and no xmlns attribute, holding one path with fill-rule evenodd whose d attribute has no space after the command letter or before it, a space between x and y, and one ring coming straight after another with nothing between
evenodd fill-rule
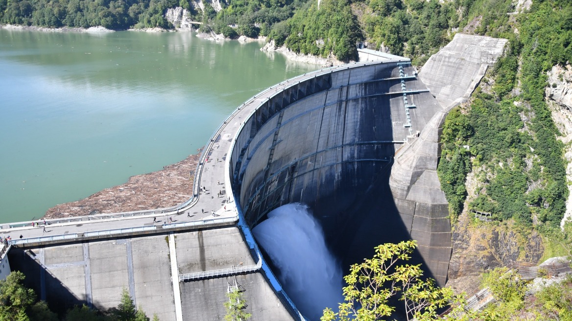
<instances>
[{"instance_id":1,"label":"brown mass of driftwood floating against the dam's walkway","mask_svg":"<svg viewBox=\"0 0 572 321\"><path fill-rule=\"evenodd\" d=\"M136 175L127 183L105 188L88 198L54 206L44 218L151 210L181 204L193 195L194 170L199 153L149 174Z\"/></svg>"}]
</instances>

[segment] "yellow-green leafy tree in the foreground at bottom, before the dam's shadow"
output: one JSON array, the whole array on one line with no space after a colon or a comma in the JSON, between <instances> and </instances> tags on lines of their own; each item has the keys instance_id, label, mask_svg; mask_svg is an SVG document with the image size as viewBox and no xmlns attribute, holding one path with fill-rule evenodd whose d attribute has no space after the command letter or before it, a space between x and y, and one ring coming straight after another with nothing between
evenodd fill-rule
<instances>
[{"instance_id":1,"label":"yellow-green leafy tree in the foreground at bottom, before the dam's shadow","mask_svg":"<svg viewBox=\"0 0 572 321\"><path fill-rule=\"evenodd\" d=\"M345 302L339 304L338 312L326 308L321 321L381 320L396 310L390 305L395 298L403 302L407 320L438 319L438 310L451 302L456 320L470 318L472 315L462 312L465 302L460 296L450 288L435 286L432 279L422 279L420 264L402 264L411 258L415 247L414 240L382 244L375 248L374 258L353 264L344 276L348 284L343 288Z\"/></svg>"}]
</instances>

